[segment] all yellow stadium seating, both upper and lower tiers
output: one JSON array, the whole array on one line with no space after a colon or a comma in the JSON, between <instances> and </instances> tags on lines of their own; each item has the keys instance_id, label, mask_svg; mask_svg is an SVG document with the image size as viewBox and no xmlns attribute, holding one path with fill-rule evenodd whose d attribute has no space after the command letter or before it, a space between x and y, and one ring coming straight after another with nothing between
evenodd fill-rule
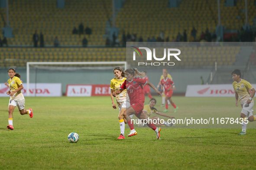
<instances>
[{"instance_id":1,"label":"all yellow stadium seating, both upper and lower tiers","mask_svg":"<svg viewBox=\"0 0 256 170\"><path fill-rule=\"evenodd\" d=\"M106 22L112 15L111 0L66 0L64 9L57 9L53 0L10 0L10 25L14 28L14 38L8 38L8 44L15 48L0 48L0 66L26 66L27 61L125 61L125 48L90 47L77 48L81 45L83 35L72 35L74 27L83 22L92 28L92 35L87 36L88 45L102 46L105 44ZM125 5L117 14L116 24L120 28L119 40L122 31L136 33L144 41L148 37L158 37L164 31L165 37L171 39L178 32L187 30L188 39L193 26L197 29L197 38L201 31L209 28L215 31L217 25L216 0L181 0L179 8L169 8L168 0L126 0ZM149 10L150 9L150 10ZM237 0L233 7L225 6L220 1L221 21L227 29L240 29L244 25L244 0ZM2 20L6 18L6 9L0 9ZM250 25L256 16L256 6L253 0L248 0L248 17ZM4 22L0 22L0 27ZM42 31L45 45L53 46L55 36L58 36L60 45L67 48L24 48L32 46L34 31ZM19 47L24 46L24 47ZM178 66L213 66L234 65L240 47L181 47L182 63ZM161 55L161 54L160 54ZM249 56L248 56L249 57ZM253 57L251 57L253 58ZM251 59L254 61L253 59Z\"/></svg>"}]
</instances>

